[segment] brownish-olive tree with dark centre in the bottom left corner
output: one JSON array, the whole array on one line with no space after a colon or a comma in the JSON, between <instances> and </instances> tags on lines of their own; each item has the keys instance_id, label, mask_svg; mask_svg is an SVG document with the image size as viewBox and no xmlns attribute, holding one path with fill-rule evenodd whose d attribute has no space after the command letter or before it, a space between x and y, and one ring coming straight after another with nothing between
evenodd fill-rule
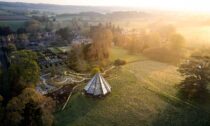
<instances>
[{"instance_id":1,"label":"brownish-olive tree with dark centre in the bottom left corner","mask_svg":"<svg viewBox=\"0 0 210 126\"><path fill-rule=\"evenodd\" d=\"M54 107L51 98L26 88L7 104L5 123L9 126L51 126Z\"/></svg>"}]
</instances>

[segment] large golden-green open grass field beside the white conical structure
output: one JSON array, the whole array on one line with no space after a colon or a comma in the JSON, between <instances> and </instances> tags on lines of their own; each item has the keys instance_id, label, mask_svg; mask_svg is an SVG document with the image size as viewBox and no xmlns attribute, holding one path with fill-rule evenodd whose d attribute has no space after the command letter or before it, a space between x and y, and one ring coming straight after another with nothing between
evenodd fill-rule
<instances>
[{"instance_id":1,"label":"large golden-green open grass field beside the white conical structure","mask_svg":"<svg viewBox=\"0 0 210 126\"><path fill-rule=\"evenodd\" d=\"M111 94L97 99L77 92L64 111L55 113L55 125L210 125L207 110L176 97L176 85L182 80L176 67L145 60L141 55L131 57L125 50L114 48L111 59L121 58L131 63L114 70L107 78L112 86Z\"/></svg>"}]
</instances>

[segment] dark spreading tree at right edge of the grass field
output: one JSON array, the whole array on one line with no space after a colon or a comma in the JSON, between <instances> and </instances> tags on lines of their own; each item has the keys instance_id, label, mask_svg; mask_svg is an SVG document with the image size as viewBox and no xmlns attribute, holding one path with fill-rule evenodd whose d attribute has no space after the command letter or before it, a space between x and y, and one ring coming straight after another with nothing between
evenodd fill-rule
<instances>
[{"instance_id":1,"label":"dark spreading tree at right edge of the grass field","mask_svg":"<svg viewBox=\"0 0 210 126\"><path fill-rule=\"evenodd\" d=\"M207 84L210 82L210 57L192 55L181 64L178 71L185 77L180 84L180 91L187 98L205 96Z\"/></svg>"}]
</instances>

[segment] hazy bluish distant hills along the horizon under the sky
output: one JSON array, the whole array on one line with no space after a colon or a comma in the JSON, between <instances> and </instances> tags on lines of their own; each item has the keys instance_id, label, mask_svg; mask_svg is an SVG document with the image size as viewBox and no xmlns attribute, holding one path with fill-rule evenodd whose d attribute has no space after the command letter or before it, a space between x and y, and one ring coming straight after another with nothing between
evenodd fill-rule
<instances>
[{"instance_id":1,"label":"hazy bluish distant hills along the horizon under the sky","mask_svg":"<svg viewBox=\"0 0 210 126\"><path fill-rule=\"evenodd\" d=\"M56 9L55 9L56 8ZM39 10L54 13L80 13L80 12L99 12L108 13L113 11L133 10L125 7L96 7L96 6L74 6L74 5L53 5L53 4L32 4L32 3L21 3L21 2L0 2L0 9L5 10Z\"/></svg>"}]
</instances>

